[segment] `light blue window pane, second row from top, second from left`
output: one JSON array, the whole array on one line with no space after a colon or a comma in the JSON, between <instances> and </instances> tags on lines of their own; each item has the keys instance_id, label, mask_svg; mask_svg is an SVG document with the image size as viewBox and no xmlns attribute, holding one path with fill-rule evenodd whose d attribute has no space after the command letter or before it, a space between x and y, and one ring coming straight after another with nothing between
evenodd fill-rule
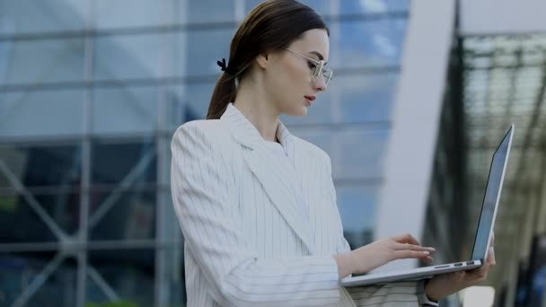
<instances>
[{"instance_id":1,"label":"light blue window pane, second row from top, second from left","mask_svg":"<svg viewBox=\"0 0 546 307\"><path fill-rule=\"evenodd\" d=\"M167 35L139 34L97 37L95 79L157 78Z\"/></svg>"}]
</instances>

